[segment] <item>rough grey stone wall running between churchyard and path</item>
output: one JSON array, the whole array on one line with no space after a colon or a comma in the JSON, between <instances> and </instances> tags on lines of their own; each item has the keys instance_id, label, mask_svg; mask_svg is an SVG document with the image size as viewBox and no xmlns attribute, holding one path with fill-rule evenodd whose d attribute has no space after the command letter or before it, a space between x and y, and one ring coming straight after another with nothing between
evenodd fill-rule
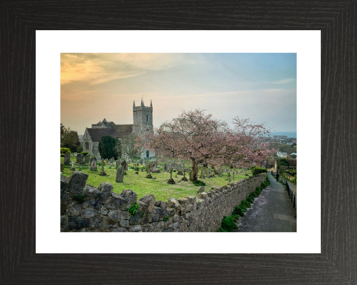
<instances>
[{"instance_id":1,"label":"rough grey stone wall running between churchyard and path","mask_svg":"<svg viewBox=\"0 0 357 285\"><path fill-rule=\"evenodd\" d=\"M146 194L137 200L134 191L113 192L110 183L98 188L87 185L88 175L74 171L60 177L61 232L214 232L223 216L266 180L266 173L215 187L196 196L156 201ZM80 198L82 197L82 201ZM135 202L135 215L127 209Z\"/></svg>"}]
</instances>

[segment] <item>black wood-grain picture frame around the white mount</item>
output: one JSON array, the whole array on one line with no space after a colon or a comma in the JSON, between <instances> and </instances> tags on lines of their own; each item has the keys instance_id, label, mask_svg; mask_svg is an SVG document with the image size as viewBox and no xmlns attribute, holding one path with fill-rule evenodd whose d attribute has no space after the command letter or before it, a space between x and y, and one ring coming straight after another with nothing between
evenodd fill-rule
<instances>
[{"instance_id":1,"label":"black wood-grain picture frame around the white mount","mask_svg":"<svg viewBox=\"0 0 357 285\"><path fill-rule=\"evenodd\" d=\"M357 284L356 2L2 0L0 284ZM321 254L35 254L35 31L112 29L321 30Z\"/></svg>"}]
</instances>

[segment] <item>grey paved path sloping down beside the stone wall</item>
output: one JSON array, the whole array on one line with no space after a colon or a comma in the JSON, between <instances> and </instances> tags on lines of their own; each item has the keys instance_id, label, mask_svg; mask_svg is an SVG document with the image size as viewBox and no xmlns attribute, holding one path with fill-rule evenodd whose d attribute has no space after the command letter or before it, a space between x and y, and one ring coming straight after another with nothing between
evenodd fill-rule
<instances>
[{"instance_id":1,"label":"grey paved path sloping down beside the stone wall","mask_svg":"<svg viewBox=\"0 0 357 285\"><path fill-rule=\"evenodd\" d=\"M270 185L239 219L235 232L296 232L296 209L284 186L269 173Z\"/></svg>"}]
</instances>

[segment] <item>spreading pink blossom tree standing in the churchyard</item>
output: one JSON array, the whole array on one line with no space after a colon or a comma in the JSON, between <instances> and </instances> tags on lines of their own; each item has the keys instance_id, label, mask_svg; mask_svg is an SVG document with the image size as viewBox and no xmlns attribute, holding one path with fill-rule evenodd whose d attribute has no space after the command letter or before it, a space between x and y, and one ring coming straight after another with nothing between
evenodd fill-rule
<instances>
[{"instance_id":1,"label":"spreading pink blossom tree standing in the churchyard","mask_svg":"<svg viewBox=\"0 0 357 285\"><path fill-rule=\"evenodd\" d=\"M267 150L254 149L259 138L269 134L264 124L236 117L234 128L230 128L204 111L182 111L178 118L145 133L137 143L163 157L189 160L193 181L197 180L200 163L214 167L235 165L242 158L258 159L266 155Z\"/></svg>"}]
</instances>

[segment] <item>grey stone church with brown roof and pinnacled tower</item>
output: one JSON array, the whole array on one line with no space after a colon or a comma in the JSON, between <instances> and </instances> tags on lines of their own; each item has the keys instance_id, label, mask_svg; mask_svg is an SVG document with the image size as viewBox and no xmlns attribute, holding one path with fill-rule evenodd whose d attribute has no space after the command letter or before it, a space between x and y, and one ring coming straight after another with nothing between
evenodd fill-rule
<instances>
[{"instance_id":1,"label":"grey stone church with brown roof and pinnacled tower","mask_svg":"<svg viewBox=\"0 0 357 285\"><path fill-rule=\"evenodd\" d=\"M144 126L144 127L143 127ZM150 100L150 107L145 106L141 99L140 106L135 106L133 102L133 124L117 125L114 122L108 122L105 118L97 124L92 124L92 128L86 128L83 135L83 151L88 151L92 155L98 155L98 144L103 136L109 135L119 140L124 137L135 134L141 135L143 132L152 132L153 130L153 107ZM143 150L141 158L151 158L155 154L151 151Z\"/></svg>"}]
</instances>

